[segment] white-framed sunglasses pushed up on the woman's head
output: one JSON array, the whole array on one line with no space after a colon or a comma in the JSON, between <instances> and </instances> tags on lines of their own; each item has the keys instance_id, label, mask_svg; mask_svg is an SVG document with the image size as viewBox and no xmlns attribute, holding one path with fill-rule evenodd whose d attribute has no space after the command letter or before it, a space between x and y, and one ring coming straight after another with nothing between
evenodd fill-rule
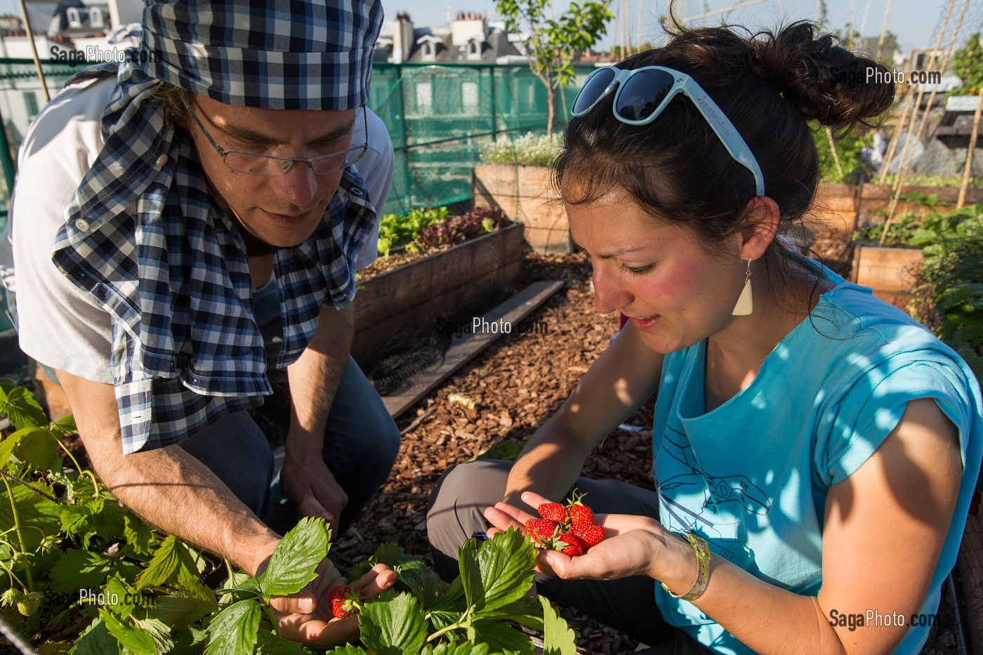
<instances>
[{"instance_id":1,"label":"white-framed sunglasses pushed up on the woman's head","mask_svg":"<svg viewBox=\"0 0 983 655\"><path fill-rule=\"evenodd\" d=\"M615 87L617 91L611 109L619 121L628 125L648 125L656 120L676 93L684 94L703 114L734 161L754 175L757 194L765 195L765 179L758 160L714 99L693 78L664 66L644 66L634 70L604 66L587 76L584 88L573 101L571 113L583 116Z\"/></svg>"}]
</instances>

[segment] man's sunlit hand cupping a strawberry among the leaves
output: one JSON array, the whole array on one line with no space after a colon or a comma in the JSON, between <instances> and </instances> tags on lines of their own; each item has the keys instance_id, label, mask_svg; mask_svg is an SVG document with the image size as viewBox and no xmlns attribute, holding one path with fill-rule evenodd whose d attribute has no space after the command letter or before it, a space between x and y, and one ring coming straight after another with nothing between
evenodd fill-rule
<instances>
[{"instance_id":1,"label":"man's sunlit hand cupping a strawberry among the leaves","mask_svg":"<svg viewBox=\"0 0 983 655\"><path fill-rule=\"evenodd\" d=\"M376 565L351 583L352 590L363 597L374 597L396 583L396 573L385 565ZM331 614L331 589L348 581L328 561L318 565L318 577L303 590L290 596L269 600L276 611L280 636L307 646L330 648L359 636L358 617L335 619Z\"/></svg>"}]
</instances>

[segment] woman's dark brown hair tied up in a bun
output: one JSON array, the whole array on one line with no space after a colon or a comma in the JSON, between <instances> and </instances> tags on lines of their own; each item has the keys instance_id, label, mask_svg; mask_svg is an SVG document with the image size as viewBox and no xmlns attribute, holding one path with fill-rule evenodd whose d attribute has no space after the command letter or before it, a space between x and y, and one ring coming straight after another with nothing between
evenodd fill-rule
<instances>
[{"instance_id":1,"label":"woman's dark brown hair tied up in a bun","mask_svg":"<svg viewBox=\"0 0 983 655\"><path fill-rule=\"evenodd\" d=\"M778 204L782 222L794 221L810 207L818 178L809 122L851 128L884 112L894 86L868 83L875 72L875 80L889 80L887 69L839 47L834 36L817 36L812 24L778 33L738 30L675 25L665 47L618 67L665 66L690 75L754 153L765 195ZM653 216L688 228L714 252L740 228L742 209L756 195L753 176L682 93L643 126L614 117L613 95L567 124L553 176L562 200L591 203L621 190ZM769 259L778 251L773 246Z\"/></svg>"}]
</instances>

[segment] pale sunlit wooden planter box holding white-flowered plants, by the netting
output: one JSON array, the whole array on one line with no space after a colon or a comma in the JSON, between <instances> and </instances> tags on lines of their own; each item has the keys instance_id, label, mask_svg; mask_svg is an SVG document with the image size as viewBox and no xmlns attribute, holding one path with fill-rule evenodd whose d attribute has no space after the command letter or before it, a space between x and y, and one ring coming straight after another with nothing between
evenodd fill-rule
<instances>
[{"instance_id":1,"label":"pale sunlit wooden planter box holding white-flowered plants, by the netting","mask_svg":"<svg viewBox=\"0 0 983 655\"><path fill-rule=\"evenodd\" d=\"M525 239L537 253L566 255L566 210L552 192L548 166L479 164L472 181L475 207L497 207L525 227Z\"/></svg>"}]
</instances>

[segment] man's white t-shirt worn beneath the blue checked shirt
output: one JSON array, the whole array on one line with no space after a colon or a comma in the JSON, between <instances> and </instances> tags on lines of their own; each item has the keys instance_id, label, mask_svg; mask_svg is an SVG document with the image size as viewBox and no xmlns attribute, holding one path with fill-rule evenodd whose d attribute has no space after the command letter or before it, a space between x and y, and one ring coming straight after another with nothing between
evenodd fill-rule
<instances>
[{"instance_id":1,"label":"man's white t-shirt worn beneath the blue checked shirt","mask_svg":"<svg viewBox=\"0 0 983 655\"><path fill-rule=\"evenodd\" d=\"M65 209L102 149L101 117L113 89L113 78L73 85L37 115L18 155L10 219L0 239L0 279L16 293L21 349L41 364L107 384L113 383L109 314L55 267L51 251ZM392 183L392 143L371 110L368 122L369 149L356 168L380 210ZM352 143L358 144L363 122L355 125ZM358 268L376 260L377 241L376 220Z\"/></svg>"}]
</instances>

